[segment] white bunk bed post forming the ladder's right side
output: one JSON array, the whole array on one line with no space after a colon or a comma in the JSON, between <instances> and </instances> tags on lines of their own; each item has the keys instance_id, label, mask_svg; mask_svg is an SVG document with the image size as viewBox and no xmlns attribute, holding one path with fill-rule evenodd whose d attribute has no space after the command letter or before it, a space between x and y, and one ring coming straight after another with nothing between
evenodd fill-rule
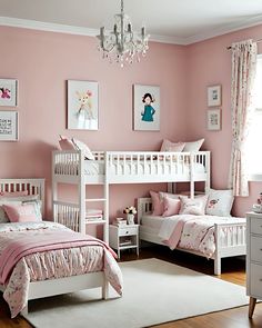
<instances>
[{"instance_id":1,"label":"white bunk bed post forming the ladder's right side","mask_svg":"<svg viewBox=\"0 0 262 328\"><path fill-rule=\"evenodd\" d=\"M103 183L103 216L104 216L104 227L103 227L103 241L109 242L109 153L104 152L104 183Z\"/></svg>"}]
</instances>

